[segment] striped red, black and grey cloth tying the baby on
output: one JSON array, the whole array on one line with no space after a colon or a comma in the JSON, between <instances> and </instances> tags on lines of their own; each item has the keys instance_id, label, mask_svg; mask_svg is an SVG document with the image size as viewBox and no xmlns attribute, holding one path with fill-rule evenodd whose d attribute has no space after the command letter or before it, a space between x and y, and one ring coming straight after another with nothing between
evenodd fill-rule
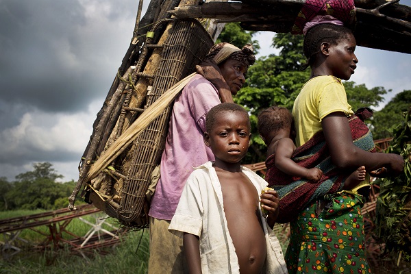
<instances>
[{"instance_id":1,"label":"striped red, black and grey cloth tying the baby on","mask_svg":"<svg viewBox=\"0 0 411 274\"><path fill-rule=\"evenodd\" d=\"M375 152L373 135L363 122L371 116L372 111L369 108L361 108L349 117L349 126L354 145L365 151ZM292 154L292 160L307 169L321 169L323 176L319 182L291 177L277 169L273 157L267 158L265 179L269 187L277 190L280 197L278 223L292 221L296 218L295 212L300 212L312 201L342 190L349 175L341 173L332 163L323 132L315 134L308 142L298 147Z\"/></svg>"}]
</instances>

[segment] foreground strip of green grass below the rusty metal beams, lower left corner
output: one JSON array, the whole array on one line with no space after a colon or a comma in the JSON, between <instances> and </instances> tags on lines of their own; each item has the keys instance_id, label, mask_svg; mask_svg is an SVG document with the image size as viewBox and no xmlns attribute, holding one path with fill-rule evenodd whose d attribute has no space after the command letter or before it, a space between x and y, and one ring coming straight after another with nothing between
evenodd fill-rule
<instances>
[{"instance_id":1,"label":"foreground strip of green grass below the rusty metal beams, lower left corner","mask_svg":"<svg viewBox=\"0 0 411 274\"><path fill-rule=\"evenodd\" d=\"M149 258L149 233L145 230L142 238L141 234L142 231L128 232L115 247L101 249L104 253L90 251L84 254L85 258L69 249L43 251L31 256L22 253L11 260L0 261L0 273L144 274Z\"/></svg>"}]
</instances>

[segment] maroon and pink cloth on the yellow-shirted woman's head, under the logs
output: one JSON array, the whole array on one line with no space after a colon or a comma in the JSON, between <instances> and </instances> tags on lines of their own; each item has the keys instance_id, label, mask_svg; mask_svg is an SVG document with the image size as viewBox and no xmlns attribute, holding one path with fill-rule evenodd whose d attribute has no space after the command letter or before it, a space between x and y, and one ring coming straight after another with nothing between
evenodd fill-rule
<instances>
[{"instance_id":1,"label":"maroon and pink cloth on the yellow-shirted woman's head, under the logs","mask_svg":"<svg viewBox=\"0 0 411 274\"><path fill-rule=\"evenodd\" d=\"M356 25L354 0L306 0L292 26L292 34L306 34L310 27L323 23Z\"/></svg>"}]
</instances>

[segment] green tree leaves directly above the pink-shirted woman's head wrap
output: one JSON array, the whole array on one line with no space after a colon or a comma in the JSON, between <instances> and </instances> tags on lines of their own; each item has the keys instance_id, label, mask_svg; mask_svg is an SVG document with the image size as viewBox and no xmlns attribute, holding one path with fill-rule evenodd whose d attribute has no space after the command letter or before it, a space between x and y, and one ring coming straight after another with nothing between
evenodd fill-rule
<instances>
[{"instance_id":1,"label":"green tree leaves directly above the pink-shirted woman's head wrap","mask_svg":"<svg viewBox=\"0 0 411 274\"><path fill-rule=\"evenodd\" d=\"M260 45L258 44L258 40L253 40L254 34L256 34L256 32L242 29L239 22L227 23L225 24L223 32L221 32L219 38L217 38L216 43L229 42L240 49L246 44L251 44L254 47L254 52L257 54Z\"/></svg>"}]
</instances>

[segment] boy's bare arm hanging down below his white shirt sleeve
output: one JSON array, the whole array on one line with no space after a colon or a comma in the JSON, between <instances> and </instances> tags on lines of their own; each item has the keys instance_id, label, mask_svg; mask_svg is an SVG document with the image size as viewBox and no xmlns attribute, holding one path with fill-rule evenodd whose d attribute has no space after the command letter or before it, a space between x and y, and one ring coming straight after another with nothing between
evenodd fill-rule
<instances>
[{"instance_id":1,"label":"boy's bare arm hanging down below his white shirt sleeve","mask_svg":"<svg viewBox=\"0 0 411 274\"><path fill-rule=\"evenodd\" d=\"M186 253L189 273L201 273L199 237L184 233L183 247L184 253Z\"/></svg>"}]
</instances>

